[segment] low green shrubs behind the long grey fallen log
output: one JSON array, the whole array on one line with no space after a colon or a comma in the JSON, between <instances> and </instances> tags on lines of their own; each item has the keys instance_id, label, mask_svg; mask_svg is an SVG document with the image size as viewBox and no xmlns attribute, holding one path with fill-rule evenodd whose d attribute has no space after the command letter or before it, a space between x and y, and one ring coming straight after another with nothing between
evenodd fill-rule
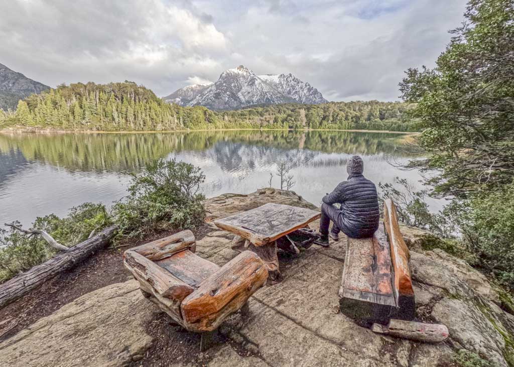
<instances>
[{"instance_id":1,"label":"low green shrubs behind the long grey fallen log","mask_svg":"<svg viewBox=\"0 0 514 367\"><path fill-rule=\"evenodd\" d=\"M86 240L91 231L108 224L110 222L102 204L85 203L71 208L63 218L55 214L38 217L31 227L42 229L57 242L71 247ZM56 252L39 235L0 229L0 283L45 262Z\"/></svg>"}]
</instances>

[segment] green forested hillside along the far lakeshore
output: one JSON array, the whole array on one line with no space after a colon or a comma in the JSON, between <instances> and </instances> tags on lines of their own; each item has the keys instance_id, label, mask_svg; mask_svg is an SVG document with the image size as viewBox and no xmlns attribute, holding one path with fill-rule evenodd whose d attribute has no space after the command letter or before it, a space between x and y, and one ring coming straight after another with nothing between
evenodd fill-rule
<instances>
[{"instance_id":1,"label":"green forested hillside along the far lakeshore","mask_svg":"<svg viewBox=\"0 0 514 367\"><path fill-rule=\"evenodd\" d=\"M93 131L168 131L179 129L364 129L416 131L400 102L279 104L214 112L181 107L158 98L134 82L60 85L18 103L16 112L0 109L1 127Z\"/></svg>"}]
</instances>

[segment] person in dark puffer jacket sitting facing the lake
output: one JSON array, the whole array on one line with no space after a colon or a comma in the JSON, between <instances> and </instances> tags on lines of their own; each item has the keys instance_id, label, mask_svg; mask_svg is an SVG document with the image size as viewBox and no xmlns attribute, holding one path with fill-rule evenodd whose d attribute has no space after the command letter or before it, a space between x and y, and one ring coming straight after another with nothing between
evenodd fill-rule
<instances>
[{"instance_id":1,"label":"person in dark puffer jacket sitting facing the lake","mask_svg":"<svg viewBox=\"0 0 514 367\"><path fill-rule=\"evenodd\" d=\"M321 245L328 245L328 226L334 222L330 236L339 240L339 232L348 237L373 237L378 229L380 210L375 184L365 178L364 162L354 155L346 166L347 181L341 182L330 194L323 197L321 205ZM338 209L334 204L339 203Z\"/></svg>"}]
</instances>

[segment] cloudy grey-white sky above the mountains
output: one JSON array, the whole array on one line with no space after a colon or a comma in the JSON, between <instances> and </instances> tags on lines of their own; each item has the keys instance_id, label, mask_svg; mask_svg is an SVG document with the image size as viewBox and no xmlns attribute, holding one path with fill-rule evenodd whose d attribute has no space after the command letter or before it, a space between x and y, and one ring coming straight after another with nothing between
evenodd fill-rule
<instances>
[{"instance_id":1,"label":"cloudy grey-white sky above the mountains","mask_svg":"<svg viewBox=\"0 0 514 367\"><path fill-rule=\"evenodd\" d=\"M131 80L158 96L243 64L332 101L398 100L465 0L0 0L0 63L54 87Z\"/></svg>"}]
</instances>

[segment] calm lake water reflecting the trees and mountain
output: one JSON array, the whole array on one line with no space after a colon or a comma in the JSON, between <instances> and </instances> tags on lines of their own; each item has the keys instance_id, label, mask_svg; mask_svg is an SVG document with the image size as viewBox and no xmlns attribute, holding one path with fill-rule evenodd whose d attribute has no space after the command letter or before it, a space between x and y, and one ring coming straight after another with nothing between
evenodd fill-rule
<instances>
[{"instance_id":1,"label":"calm lake water reflecting the trees and mountain","mask_svg":"<svg viewBox=\"0 0 514 367\"><path fill-rule=\"evenodd\" d=\"M390 162L409 159L398 149L405 135L349 132L225 131L146 134L0 134L0 224L29 225L36 216L64 215L84 201L111 204L126 194L129 173L153 158L176 157L199 166L206 196L249 193L268 186L284 159L294 168L292 190L316 205L346 179L346 160L364 159L378 184L419 173ZM279 187L277 176L272 186ZM431 208L439 209L436 201Z\"/></svg>"}]
</instances>

